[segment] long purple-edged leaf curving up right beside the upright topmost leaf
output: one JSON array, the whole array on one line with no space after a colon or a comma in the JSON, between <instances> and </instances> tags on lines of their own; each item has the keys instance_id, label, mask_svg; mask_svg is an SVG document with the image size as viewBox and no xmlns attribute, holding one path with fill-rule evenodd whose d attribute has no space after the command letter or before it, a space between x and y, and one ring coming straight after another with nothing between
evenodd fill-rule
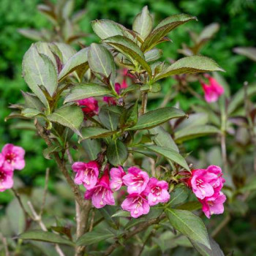
<instances>
[{"instance_id":1,"label":"long purple-edged leaf curving up right beside the upright topmost leaf","mask_svg":"<svg viewBox=\"0 0 256 256\"><path fill-rule=\"evenodd\" d=\"M148 34L145 41L141 45L141 50L146 52L157 45L157 43L165 37L170 31L176 29L177 26L181 26L184 23L187 23L189 20L195 20L196 18L186 14L173 15L165 20L162 20L157 27Z\"/></svg>"}]
</instances>

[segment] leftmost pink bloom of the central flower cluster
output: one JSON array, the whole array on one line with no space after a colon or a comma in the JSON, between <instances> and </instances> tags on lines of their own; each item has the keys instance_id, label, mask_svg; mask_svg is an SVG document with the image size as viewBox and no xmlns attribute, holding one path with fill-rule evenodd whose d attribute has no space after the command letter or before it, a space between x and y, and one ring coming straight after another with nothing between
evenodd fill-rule
<instances>
[{"instance_id":1,"label":"leftmost pink bloom of the central flower cluster","mask_svg":"<svg viewBox=\"0 0 256 256\"><path fill-rule=\"evenodd\" d=\"M99 165L97 162L74 162L72 170L76 173L75 184L83 184L86 189L92 189L97 184L99 176Z\"/></svg>"}]
</instances>

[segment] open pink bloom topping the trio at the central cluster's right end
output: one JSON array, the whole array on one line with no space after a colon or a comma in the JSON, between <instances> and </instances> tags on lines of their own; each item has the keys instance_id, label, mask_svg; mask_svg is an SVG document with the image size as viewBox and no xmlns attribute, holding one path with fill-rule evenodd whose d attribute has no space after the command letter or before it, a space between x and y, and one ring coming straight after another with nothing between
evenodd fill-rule
<instances>
[{"instance_id":1,"label":"open pink bloom topping the trio at the central cluster's right end","mask_svg":"<svg viewBox=\"0 0 256 256\"><path fill-rule=\"evenodd\" d=\"M140 194L146 189L149 181L148 173L140 170L138 167L129 167L128 174L123 177L124 184L127 185L129 194Z\"/></svg>"}]
</instances>

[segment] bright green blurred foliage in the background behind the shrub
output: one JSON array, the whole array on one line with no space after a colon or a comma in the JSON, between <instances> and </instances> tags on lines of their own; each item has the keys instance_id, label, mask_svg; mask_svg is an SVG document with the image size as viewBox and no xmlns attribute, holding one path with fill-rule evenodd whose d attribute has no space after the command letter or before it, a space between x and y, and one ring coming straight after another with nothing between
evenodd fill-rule
<instances>
[{"instance_id":1,"label":"bright green blurred foliage in the background behind the shrub","mask_svg":"<svg viewBox=\"0 0 256 256\"><path fill-rule=\"evenodd\" d=\"M25 184L33 183L35 187L43 187L45 169L52 167L54 170L54 162L42 157L45 143L36 137L34 130L18 129L20 124L17 120L4 122L4 118L11 112L7 108L10 103L22 102L20 90L28 91L21 76L21 63L24 53L33 41L19 34L18 29L51 27L48 19L37 11L37 4L42 2L1 0L0 8L0 148L5 143L14 143L26 149L26 167L18 173L18 176ZM232 92L241 88L245 80L248 82L256 80L256 65L246 57L233 53L233 48L237 46L256 46L256 4L253 0L76 0L75 10L86 9L79 22L80 30L89 34L83 39L83 43L89 45L99 40L93 34L91 20L108 18L130 28L133 18L145 5L148 5L154 15L155 24L167 16L182 12L197 16L197 22L188 23L170 33L172 43L159 46L164 52L164 59L181 57L177 50L181 48L182 42L186 42L187 45L192 43L189 39L189 30L199 33L204 26L219 23L218 33L201 53L210 56L226 70L224 76ZM171 83L173 80L166 80L165 87L170 86ZM199 84L195 89L200 94L203 93ZM187 97L179 95L178 101L181 108L187 110L195 99L190 97L187 100ZM49 185L50 189L53 189L53 179L50 180ZM9 202L11 198L11 192L1 193L0 204ZM248 228L246 225L242 218L238 218L233 222L234 231L243 232ZM246 238L245 235L244 233L244 239L247 241L253 238Z\"/></svg>"}]
</instances>

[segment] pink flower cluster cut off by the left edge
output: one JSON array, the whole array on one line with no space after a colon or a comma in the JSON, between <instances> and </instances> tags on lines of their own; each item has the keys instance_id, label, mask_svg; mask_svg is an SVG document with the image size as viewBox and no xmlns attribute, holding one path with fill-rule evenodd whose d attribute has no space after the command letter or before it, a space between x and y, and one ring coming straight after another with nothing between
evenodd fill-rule
<instances>
[{"instance_id":1,"label":"pink flower cluster cut off by the left edge","mask_svg":"<svg viewBox=\"0 0 256 256\"><path fill-rule=\"evenodd\" d=\"M19 146L6 144L0 153L0 192L13 186L13 171L25 167L25 151Z\"/></svg>"}]
</instances>

